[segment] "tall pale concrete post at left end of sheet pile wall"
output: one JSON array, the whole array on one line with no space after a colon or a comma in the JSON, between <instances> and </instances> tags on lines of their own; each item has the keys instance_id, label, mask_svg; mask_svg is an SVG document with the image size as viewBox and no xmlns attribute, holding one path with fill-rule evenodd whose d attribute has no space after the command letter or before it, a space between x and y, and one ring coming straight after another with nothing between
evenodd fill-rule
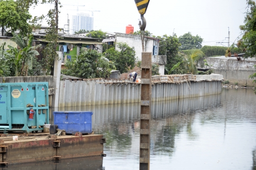
<instances>
[{"instance_id":1,"label":"tall pale concrete post at left end of sheet pile wall","mask_svg":"<svg viewBox=\"0 0 256 170\"><path fill-rule=\"evenodd\" d=\"M55 94L53 95L53 107L59 107L59 94L60 94L60 75L61 75L61 58L62 52L56 51L58 57L55 57L54 62L54 85L55 85Z\"/></svg>"}]
</instances>

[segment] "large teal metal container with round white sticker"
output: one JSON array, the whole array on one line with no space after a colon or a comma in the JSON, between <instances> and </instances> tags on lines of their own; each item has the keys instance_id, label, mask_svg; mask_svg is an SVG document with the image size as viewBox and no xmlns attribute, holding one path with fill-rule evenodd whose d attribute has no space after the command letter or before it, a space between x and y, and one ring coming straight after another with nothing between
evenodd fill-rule
<instances>
[{"instance_id":1,"label":"large teal metal container with round white sticker","mask_svg":"<svg viewBox=\"0 0 256 170\"><path fill-rule=\"evenodd\" d=\"M48 103L48 82L0 83L0 131L43 131L49 124ZM32 120L28 104L35 110Z\"/></svg>"}]
</instances>

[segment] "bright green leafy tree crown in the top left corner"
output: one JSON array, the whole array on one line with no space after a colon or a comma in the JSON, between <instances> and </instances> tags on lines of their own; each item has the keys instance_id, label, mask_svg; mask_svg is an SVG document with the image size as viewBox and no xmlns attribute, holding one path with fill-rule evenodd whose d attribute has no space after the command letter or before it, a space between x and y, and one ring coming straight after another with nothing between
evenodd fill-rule
<instances>
[{"instance_id":1,"label":"bright green leafy tree crown in the top left corner","mask_svg":"<svg viewBox=\"0 0 256 170\"><path fill-rule=\"evenodd\" d=\"M11 28L11 32L19 30L22 35L31 32L28 21L32 18L28 9L20 6L20 0L0 0L0 26L2 27L2 36L4 36L4 27Z\"/></svg>"}]
</instances>

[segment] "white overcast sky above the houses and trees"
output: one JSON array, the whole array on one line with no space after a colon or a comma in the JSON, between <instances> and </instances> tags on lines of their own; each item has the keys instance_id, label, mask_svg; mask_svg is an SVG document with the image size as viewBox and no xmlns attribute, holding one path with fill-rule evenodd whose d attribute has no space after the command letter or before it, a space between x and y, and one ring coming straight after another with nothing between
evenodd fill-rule
<instances>
[{"instance_id":1,"label":"white overcast sky above the houses and trees","mask_svg":"<svg viewBox=\"0 0 256 170\"><path fill-rule=\"evenodd\" d=\"M60 0L59 27L67 24L67 14L70 23L72 15L94 12L94 30L125 33L127 25L138 30L137 11L134 0ZM77 5L79 11L77 11ZM84 5L84 6L83 6ZM241 34L239 25L244 24L246 0L150 0L146 14L146 30L155 36L173 35L179 37L187 32L203 38L203 45L217 45L216 42L228 42L230 45ZM46 14L54 5L38 5L30 9L33 16ZM43 23L46 26L46 22ZM66 27L66 26L65 26ZM229 27L229 28L228 28ZM71 27L72 28L72 25ZM228 43L223 43L227 46Z\"/></svg>"}]
</instances>

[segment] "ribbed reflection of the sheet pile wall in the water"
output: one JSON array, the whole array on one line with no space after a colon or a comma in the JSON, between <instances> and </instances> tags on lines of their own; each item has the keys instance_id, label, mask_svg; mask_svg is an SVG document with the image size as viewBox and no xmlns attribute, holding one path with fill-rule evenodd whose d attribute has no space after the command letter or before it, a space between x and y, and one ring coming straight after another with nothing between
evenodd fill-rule
<instances>
[{"instance_id":1,"label":"ribbed reflection of the sheet pile wall in the water","mask_svg":"<svg viewBox=\"0 0 256 170\"><path fill-rule=\"evenodd\" d=\"M183 98L169 101L157 101L151 104L151 116L153 119L161 119L176 114L193 113L197 110L205 110L219 107L221 94L203 96L198 98ZM81 107L59 107L59 111L84 111L90 110L92 115L92 128L101 128L103 124L110 122L132 122L139 119L139 103L94 105ZM51 123L51 122L50 122Z\"/></svg>"}]
</instances>

